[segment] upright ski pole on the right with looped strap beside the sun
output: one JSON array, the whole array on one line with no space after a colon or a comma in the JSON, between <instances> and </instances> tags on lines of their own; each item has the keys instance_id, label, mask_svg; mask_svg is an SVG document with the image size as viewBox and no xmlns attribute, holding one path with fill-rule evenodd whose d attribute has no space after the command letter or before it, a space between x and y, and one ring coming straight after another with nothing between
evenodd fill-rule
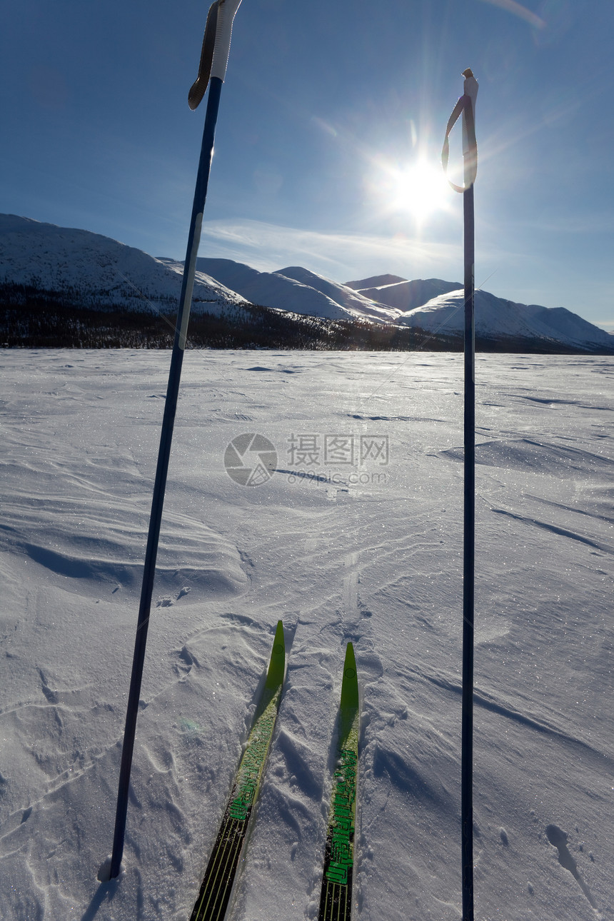
<instances>
[{"instance_id":1,"label":"upright ski pole on the right with looped strap beside the sun","mask_svg":"<svg viewBox=\"0 0 614 921\"><path fill-rule=\"evenodd\" d=\"M463 182L450 185L463 195L465 248L465 451L463 513L463 671L461 704L460 817L463 921L473 921L473 609L475 584L475 221L473 184L478 169L475 101L478 81L463 71L463 95L447 122L442 164L447 171L448 135L462 113ZM449 181L449 180L448 180Z\"/></svg>"}]
</instances>

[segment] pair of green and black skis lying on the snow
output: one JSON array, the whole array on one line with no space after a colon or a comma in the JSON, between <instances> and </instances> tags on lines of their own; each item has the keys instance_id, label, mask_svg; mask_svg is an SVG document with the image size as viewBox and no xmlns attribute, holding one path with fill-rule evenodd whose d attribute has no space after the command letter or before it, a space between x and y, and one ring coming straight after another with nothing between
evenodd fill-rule
<instances>
[{"instance_id":1,"label":"pair of green and black skis lying on the snow","mask_svg":"<svg viewBox=\"0 0 614 921\"><path fill-rule=\"evenodd\" d=\"M261 701L238 763L230 799L190 921L223 921L226 916L246 842L249 817L258 798L271 746L284 670L284 627L279 621ZM351 918L359 718L356 660L352 643L348 643L343 663L337 764L333 775L318 921L350 921Z\"/></svg>"}]
</instances>

